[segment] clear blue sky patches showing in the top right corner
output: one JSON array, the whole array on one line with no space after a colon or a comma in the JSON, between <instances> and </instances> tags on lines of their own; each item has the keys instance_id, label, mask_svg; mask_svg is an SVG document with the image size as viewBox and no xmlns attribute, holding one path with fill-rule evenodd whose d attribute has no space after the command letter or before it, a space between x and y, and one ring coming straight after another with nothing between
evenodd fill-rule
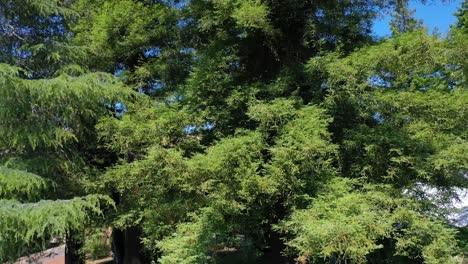
<instances>
[{"instance_id":1,"label":"clear blue sky patches showing in the top right corner","mask_svg":"<svg viewBox=\"0 0 468 264\"><path fill-rule=\"evenodd\" d=\"M446 1L428 1L425 5L419 1L410 0L410 8L416 9L414 16L418 19L423 19L424 26L432 33L437 28L437 32L445 35L451 24L455 23L456 18L454 13L461 6L463 0L446 0ZM432 2L432 3L431 3ZM390 36L390 26L388 22L390 18L384 16L377 19L374 23L373 31L378 37Z\"/></svg>"}]
</instances>

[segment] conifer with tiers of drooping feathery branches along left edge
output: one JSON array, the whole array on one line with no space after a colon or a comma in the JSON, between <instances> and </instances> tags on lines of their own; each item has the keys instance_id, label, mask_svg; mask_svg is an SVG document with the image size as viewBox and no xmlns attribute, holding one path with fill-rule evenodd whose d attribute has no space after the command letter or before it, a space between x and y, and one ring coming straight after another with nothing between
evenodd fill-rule
<instances>
[{"instance_id":1,"label":"conifer with tiers of drooping feathery branches along left edge","mask_svg":"<svg viewBox=\"0 0 468 264\"><path fill-rule=\"evenodd\" d=\"M2 261L54 236L66 235L76 250L71 235L86 227L89 213L101 213L100 203L112 204L86 196L99 167L93 126L129 95L105 74L27 80L19 72L0 66Z\"/></svg>"}]
</instances>

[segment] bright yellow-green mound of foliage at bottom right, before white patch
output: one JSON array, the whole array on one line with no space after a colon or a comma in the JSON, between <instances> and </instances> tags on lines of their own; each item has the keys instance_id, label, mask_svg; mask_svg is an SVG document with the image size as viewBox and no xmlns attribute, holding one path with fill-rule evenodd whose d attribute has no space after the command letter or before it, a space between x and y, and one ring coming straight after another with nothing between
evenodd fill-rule
<instances>
[{"instance_id":1,"label":"bright yellow-green mound of foliage at bottom right, before white patch","mask_svg":"<svg viewBox=\"0 0 468 264\"><path fill-rule=\"evenodd\" d=\"M391 242L394 255L387 260L405 256L408 261L452 263L458 252L452 228L427 217L411 198L389 186L359 185L335 178L310 208L294 212L277 226L292 235L286 242L290 250L311 261L367 263L373 252L389 250Z\"/></svg>"}]
</instances>

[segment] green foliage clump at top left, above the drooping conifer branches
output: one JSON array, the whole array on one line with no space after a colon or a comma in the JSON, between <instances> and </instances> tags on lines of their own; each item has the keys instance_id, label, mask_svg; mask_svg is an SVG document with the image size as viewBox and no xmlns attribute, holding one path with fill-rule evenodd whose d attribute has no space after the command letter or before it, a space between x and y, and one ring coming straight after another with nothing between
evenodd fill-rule
<instances>
[{"instance_id":1,"label":"green foliage clump at top left, above the drooping conifer branches","mask_svg":"<svg viewBox=\"0 0 468 264\"><path fill-rule=\"evenodd\" d=\"M78 32L74 41L90 44L92 63L100 69L140 55L142 48L170 35L166 25L176 19L174 11L162 3L148 6L130 0L81 0L74 3L73 9L83 14L74 28ZM155 26L154 21L159 25Z\"/></svg>"}]
</instances>

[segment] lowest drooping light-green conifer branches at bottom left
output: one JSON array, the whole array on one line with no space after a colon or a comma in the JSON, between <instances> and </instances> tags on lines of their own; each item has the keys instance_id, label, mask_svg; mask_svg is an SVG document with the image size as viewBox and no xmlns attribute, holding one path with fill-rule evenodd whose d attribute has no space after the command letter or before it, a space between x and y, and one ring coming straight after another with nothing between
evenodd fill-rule
<instances>
[{"instance_id":1,"label":"lowest drooping light-green conifer branches at bottom left","mask_svg":"<svg viewBox=\"0 0 468 264\"><path fill-rule=\"evenodd\" d=\"M70 235L83 230L93 214L102 214L101 204L111 201L98 195L39 201L52 188L47 180L25 171L0 170L0 260L13 261L43 249L53 238L67 237L67 263L83 262L82 254L69 246Z\"/></svg>"}]
</instances>

